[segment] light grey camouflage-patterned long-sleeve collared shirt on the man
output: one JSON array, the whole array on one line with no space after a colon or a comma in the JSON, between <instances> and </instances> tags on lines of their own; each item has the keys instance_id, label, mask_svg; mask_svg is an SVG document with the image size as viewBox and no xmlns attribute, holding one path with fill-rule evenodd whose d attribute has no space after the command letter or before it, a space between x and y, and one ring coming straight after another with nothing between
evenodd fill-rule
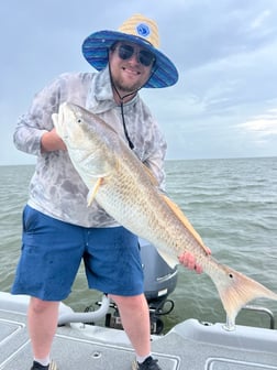
<instances>
[{"instance_id":1,"label":"light grey camouflage-patterned long-sleeve collared shirt on the man","mask_svg":"<svg viewBox=\"0 0 277 370\"><path fill-rule=\"evenodd\" d=\"M88 188L66 151L41 152L42 135L53 129L52 113L57 112L65 101L99 115L125 138L121 109L113 99L108 68L100 73L60 75L34 97L29 112L20 117L15 128L15 146L37 156L27 203L38 211L69 224L115 226L117 222L96 202L87 207ZM138 94L124 104L123 110L133 151L151 168L163 188L166 143L157 122Z\"/></svg>"}]
</instances>

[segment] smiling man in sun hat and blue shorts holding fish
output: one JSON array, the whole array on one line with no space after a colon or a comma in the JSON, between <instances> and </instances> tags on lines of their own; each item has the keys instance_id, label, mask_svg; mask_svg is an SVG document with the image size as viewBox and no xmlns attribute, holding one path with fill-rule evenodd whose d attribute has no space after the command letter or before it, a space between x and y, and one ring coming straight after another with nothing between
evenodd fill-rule
<instances>
[{"instance_id":1,"label":"smiling man in sun hat and blue shorts holding fish","mask_svg":"<svg viewBox=\"0 0 277 370\"><path fill-rule=\"evenodd\" d=\"M134 347L132 369L160 370L151 356L149 317L143 294L137 237L118 225L95 202L75 171L52 113L64 101L91 110L113 126L164 186L166 143L137 91L174 85L178 73L158 46L154 21L135 14L119 31L100 31L82 45L98 73L64 74L37 94L14 132L18 149L37 155L30 197L23 211L22 253L13 294L29 294L31 370L57 369L49 353L58 305L70 293L81 259L88 284L108 293L119 307ZM120 255L120 258L119 258ZM201 272L193 255L180 257ZM124 271L124 273L122 273Z\"/></svg>"}]
</instances>

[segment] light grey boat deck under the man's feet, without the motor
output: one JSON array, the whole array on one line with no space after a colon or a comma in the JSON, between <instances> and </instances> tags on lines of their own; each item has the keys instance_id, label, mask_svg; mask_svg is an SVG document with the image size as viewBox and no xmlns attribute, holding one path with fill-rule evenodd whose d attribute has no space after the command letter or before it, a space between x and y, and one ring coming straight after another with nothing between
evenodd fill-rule
<instances>
[{"instance_id":1,"label":"light grey boat deck under the man's feet, without the motor","mask_svg":"<svg viewBox=\"0 0 277 370\"><path fill-rule=\"evenodd\" d=\"M27 298L0 292L0 370L29 370ZM60 315L67 312L62 305ZM277 330L195 319L153 337L153 353L163 370L277 370ZM59 370L130 370L134 352L123 330L67 324L57 328L53 358Z\"/></svg>"}]
</instances>

